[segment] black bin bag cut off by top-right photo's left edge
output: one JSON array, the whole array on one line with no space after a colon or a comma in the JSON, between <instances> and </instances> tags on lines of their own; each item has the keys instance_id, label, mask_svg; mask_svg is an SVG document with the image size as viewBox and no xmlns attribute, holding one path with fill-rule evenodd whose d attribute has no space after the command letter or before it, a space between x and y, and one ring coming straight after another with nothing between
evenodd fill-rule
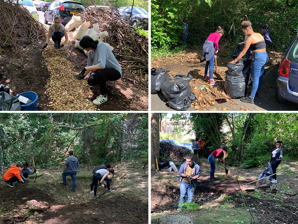
<instances>
[{"instance_id":1,"label":"black bin bag cut off by top-right photo's left edge","mask_svg":"<svg viewBox=\"0 0 298 224\"><path fill-rule=\"evenodd\" d=\"M170 79L170 75L167 72L170 72L170 70L162 68L151 69L151 93L159 92L163 82Z\"/></svg>"}]
</instances>

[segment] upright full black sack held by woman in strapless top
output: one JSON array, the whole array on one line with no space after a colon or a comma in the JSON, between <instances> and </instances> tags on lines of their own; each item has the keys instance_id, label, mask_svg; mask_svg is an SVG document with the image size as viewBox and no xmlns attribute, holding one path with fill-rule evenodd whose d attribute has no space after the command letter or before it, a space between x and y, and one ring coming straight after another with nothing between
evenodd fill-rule
<instances>
[{"instance_id":1,"label":"upright full black sack held by woman in strapless top","mask_svg":"<svg viewBox=\"0 0 298 224\"><path fill-rule=\"evenodd\" d=\"M251 63L251 60L240 58L236 64L227 64L228 72L226 73L224 90L232 99L246 96Z\"/></svg>"}]
</instances>

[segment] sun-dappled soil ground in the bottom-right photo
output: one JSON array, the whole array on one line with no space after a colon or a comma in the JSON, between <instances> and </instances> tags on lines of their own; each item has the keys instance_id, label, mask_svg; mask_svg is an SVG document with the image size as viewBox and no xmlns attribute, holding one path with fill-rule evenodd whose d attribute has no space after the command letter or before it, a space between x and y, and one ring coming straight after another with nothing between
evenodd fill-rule
<instances>
[{"instance_id":1,"label":"sun-dappled soil ground in the bottom-right photo","mask_svg":"<svg viewBox=\"0 0 298 224\"><path fill-rule=\"evenodd\" d=\"M190 217L194 223L231 224L240 223L241 220L243 223L248 223L246 218L249 217L249 213L246 212L238 190L236 176L240 187L247 186L247 183L257 180L264 167L231 168L233 179L228 180L224 168L216 166L215 176L219 176L221 180L209 181L210 166L207 159L203 159L199 163L202 173L198 179L193 201L200 205L199 211L177 212L180 197L178 172L151 173L151 208L154 210L154 213L151 214L152 222L158 223L158 218L162 215L182 214ZM179 167L177 168L179 169ZM271 186L277 188L276 193L243 191L254 219L258 223L298 223L297 177L297 160L282 161L277 169L278 183L271 183ZM255 186L255 184L252 183L250 186ZM237 215L242 219L236 218Z\"/></svg>"}]
</instances>

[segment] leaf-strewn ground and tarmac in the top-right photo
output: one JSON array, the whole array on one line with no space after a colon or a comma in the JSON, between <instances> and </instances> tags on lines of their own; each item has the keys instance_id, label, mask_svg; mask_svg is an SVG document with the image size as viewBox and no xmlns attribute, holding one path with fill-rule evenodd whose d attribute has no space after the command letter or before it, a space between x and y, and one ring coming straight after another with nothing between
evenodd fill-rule
<instances>
[{"instance_id":1,"label":"leaf-strewn ground and tarmac in the top-right photo","mask_svg":"<svg viewBox=\"0 0 298 224\"><path fill-rule=\"evenodd\" d=\"M228 95L224 92L224 81L218 79L214 75L215 81L218 81L217 86L209 86L209 82L204 80L205 63L200 63L198 53L200 54L201 48L198 50L188 49L177 55L165 56L162 58L151 59L151 68L163 68L170 70L169 74L174 76L176 74L193 76L190 85L193 89L193 94L196 100L190 105L188 110L196 111L297 111L298 106L296 103L285 102L279 103L276 97L276 77L278 67L282 58L282 53L267 52L269 61L265 67L265 75L263 84L260 89L260 97L254 98L254 104L243 103L240 99L226 99L223 101L216 101L216 97L206 89L199 89L200 86L206 85L213 91L219 98L226 98ZM225 52L222 49L222 52ZM200 56L200 55L199 55ZM227 66L226 64L231 61L230 57L222 57L220 54L217 58L217 71L221 77L225 79ZM215 72L215 67L214 67ZM246 96L251 91L251 85L247 87ZM162 93L151 94L151 110L168 110L165 106L167 100Z\"/></svg>"}]
</instances>

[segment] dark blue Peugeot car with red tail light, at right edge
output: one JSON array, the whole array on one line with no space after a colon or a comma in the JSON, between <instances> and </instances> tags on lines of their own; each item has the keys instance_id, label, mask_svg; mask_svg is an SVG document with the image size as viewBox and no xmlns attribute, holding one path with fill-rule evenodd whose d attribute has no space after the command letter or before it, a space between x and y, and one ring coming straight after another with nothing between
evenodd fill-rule
<instances>
[{"instance_id":1,"label":"dark blue Peugeot car with red tail light, at right edge","mask_svg":"<svg viewBox=\"0 0 298 224\"><path fill-rule=\"evenodd\" d=\"M282 48L287 51L278 69L276 99L298 103L298 34L289 47L283 45Z\"/></svg>"}]
</instances>

